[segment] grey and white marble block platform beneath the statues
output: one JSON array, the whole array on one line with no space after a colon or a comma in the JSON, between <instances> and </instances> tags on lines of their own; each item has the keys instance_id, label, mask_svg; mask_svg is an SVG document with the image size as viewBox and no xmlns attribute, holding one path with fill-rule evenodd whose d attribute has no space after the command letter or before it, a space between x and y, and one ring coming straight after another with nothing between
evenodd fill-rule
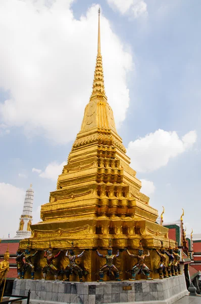
<instances>
[{"instance_id":1,"label":"grey and white marble block platform beneath the statues","mask_svg":"<svg viewBox=\"0 0 201 304\"><path fill-rule=\"evenodd\" d=\"M12 295L27 295L29 289L31 290L30 304L53 304L55 302L171 304L188 295L184 275L164 280L103 283L16 279Z\"/></svg>"}]
</instances>

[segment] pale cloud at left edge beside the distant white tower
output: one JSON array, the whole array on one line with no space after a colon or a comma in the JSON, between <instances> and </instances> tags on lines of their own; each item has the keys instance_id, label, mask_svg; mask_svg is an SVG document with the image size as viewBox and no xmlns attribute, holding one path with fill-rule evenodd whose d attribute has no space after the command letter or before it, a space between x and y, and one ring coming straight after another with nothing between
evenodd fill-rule
<instances>
[{"instance_id":1,"label":"pale cloud at left edge beside the distant white tower","mask_svg":"<svg viewBox=\"0 0 201 304\"><path fill-rule=\"evenodd\" d=\"M0 238L8 238L9 233L11 237L15 236L23 210L24 198L24 189L12 184L0 183L0 232L5 234Z\"/></svg>"}]
</instances>

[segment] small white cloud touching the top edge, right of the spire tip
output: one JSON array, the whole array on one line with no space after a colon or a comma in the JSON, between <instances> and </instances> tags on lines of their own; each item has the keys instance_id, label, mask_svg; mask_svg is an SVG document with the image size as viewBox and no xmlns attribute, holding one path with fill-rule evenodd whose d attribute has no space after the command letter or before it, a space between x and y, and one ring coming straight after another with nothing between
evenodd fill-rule
<instances>
[{"instance_id":1,"label":"small white cloud touching the top edge, right of the spire tip","mask_svg":"<svg viewBox=\"0 0 201 304\"><path fill-rule=\"evenodd\" d=\"M129 14L134 18L147 17L147 5L143 0L107 0L114 10L118 10L122 15Z\"/></svg>"}]
</instances>

